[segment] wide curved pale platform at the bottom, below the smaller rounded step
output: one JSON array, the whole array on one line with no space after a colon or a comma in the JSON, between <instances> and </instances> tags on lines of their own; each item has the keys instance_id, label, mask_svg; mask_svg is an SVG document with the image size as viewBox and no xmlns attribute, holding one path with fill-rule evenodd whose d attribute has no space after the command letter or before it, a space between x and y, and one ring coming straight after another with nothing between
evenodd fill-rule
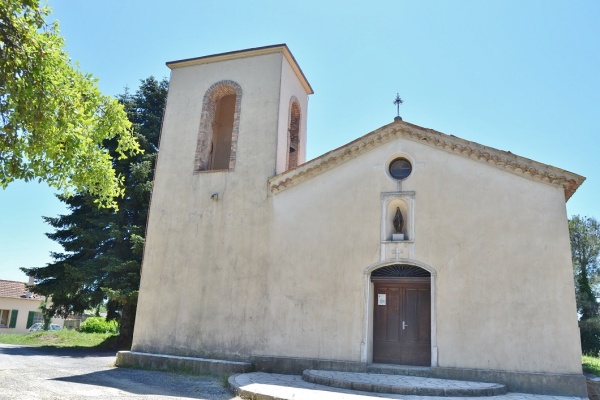
<instances>
[{"instance_id":1,"label":"wide curved pale platform at the bottom, below the smaller rounded step","mask_svg":"<svg viewBox=\"0 0 600 400\"><path fill-rule=\"evenodd\" d=\"M371 375L371 374L369 374ZM410 377L406 377L410 378ZM240 397L255 400L439 400L436 396L372 393L306 382L299 375L269 374L252 372L232 375L230 388ZM482 397L445 397L445 399L490 400ZM523 393L507 393L493 397L494 400L583 400L583 397L544 396Z\"/></svg>"}]
</instances>

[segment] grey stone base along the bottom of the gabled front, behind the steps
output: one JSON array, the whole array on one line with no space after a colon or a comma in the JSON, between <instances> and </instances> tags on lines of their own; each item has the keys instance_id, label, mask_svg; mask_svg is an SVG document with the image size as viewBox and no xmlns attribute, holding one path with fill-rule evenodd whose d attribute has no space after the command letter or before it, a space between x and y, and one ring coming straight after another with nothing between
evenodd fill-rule
<instances>
[{"instance_id":1,"label":"grey stone base along the bottom of the gabled front, behind the steps","mask_svg":"<svg viewBox=\"0 0 600 400\"><path fill-rule=\"evenodd\" d=\"M352 361L269 356L254 356L251 358L251 361L256 371L280 374L302 375L302 371L305 369L371 372L392 375L401 374L440 379L502 383L506 385L510 392L517 393L588 397L586 378L583 374L544 374L444 367L403 367Z\"/></svg>"}]
</instances>

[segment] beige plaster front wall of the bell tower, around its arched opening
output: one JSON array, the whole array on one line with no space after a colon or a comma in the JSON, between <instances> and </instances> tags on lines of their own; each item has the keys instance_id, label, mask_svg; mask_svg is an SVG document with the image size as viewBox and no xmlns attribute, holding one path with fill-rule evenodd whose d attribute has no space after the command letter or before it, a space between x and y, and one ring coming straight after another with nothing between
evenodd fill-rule
<instances>
[{"instance_id":1,"label":"beige plaster front wall of the bell tower, around its arched opening","mask_svg":"<svg viewBox=\"0 0 600 400\"><path fill-rule=\"evenodd\" d=\"M282 59L269 54L173 71L134 349L244 358L267 340L269 326L262 318L270 253L264 244L272 235L267 178L275 174L280 119L287 119L282 102L289 107L295 95L304 98L306 109L302 86L282 77ZM223 79L243 91L235 171L194 174L202 98Z\"/></svg>"}]
</instances>

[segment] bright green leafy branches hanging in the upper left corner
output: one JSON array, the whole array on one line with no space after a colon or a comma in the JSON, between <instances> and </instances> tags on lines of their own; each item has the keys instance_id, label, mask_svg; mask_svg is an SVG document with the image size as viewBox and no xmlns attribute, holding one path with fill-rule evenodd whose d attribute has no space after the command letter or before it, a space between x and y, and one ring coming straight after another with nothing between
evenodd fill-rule
<instances>
[{"instance_id":1,"label":"bright green leafy branches hanging in the upper left corner","mask_svg":"<svg viewBox=\"0 0 600 400\"><path fill-rule=\"evenodd\" d=\"M38 179L115 207L124 188L113 157L140 148L123 106L71 63L49 15L39 0L0 0L0 187Z\"/></svg>"}]
</instances>

